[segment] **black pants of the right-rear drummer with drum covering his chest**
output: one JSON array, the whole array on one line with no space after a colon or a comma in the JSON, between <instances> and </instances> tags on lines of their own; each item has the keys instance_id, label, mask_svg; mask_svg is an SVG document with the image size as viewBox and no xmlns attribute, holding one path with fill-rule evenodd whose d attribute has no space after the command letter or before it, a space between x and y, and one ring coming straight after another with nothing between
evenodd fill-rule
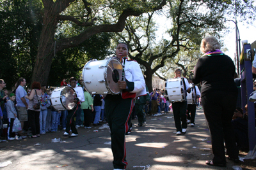
<instances>
[{"instance_id":1,"label":"black pants of the right-rear drummer with drum covering his chest","mask_svg":"<svg viewBox=\"0 0 256 170\"><path fill-rule=\"evenodd\" d=\"M176 131L182 131L186 129L187 125L187 101L172 103L173 117L175 122ZM180 121L182 124L180 124Z\"/></svg>"}]
</instances>

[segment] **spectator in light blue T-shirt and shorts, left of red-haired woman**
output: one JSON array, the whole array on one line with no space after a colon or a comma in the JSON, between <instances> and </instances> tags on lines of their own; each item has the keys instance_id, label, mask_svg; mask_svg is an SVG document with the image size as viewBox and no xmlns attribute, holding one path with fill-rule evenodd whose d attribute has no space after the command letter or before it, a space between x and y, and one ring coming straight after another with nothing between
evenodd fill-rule
<instances>
[{"instance_id":1,"label":"spectator in light blue T-shirt and shorts, left of red-haired woman","mask_svg":"<svg viewBox=\"0 0 256 170\"><path fill-rule=\"evenodd\" d=\"M24 122L28 121L28 103L29 100L25 99L25 96L27 95L26 90L24 87L26 86L26 80L25 78L19 78L17 81L17 87L16 87L16 108L18 113L18 118L20 120L21 124L21 131L19 132L19 135L22 136L22 138L25 138L25 135L23 134L23 128L24 128Z\"/></svg>"}]
</instances>

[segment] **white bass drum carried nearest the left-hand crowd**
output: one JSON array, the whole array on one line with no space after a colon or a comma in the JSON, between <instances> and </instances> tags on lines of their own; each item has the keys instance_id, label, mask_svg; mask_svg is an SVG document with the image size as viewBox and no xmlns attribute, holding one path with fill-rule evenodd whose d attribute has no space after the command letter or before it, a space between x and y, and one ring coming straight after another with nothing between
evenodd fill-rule
<instances>
[{"instance_id":1,"label":"white bass drum carried nearest the left-hand crowd","mask_svg":"<svg viewBox=\"0 0 256 170\"><path fill-rule=\"evenodd\" d=\"M61 87L54 89L51 94L51 103L55 110L72 110L76 103L76 91L72 87Z\"/></svg>"}]
</instances>

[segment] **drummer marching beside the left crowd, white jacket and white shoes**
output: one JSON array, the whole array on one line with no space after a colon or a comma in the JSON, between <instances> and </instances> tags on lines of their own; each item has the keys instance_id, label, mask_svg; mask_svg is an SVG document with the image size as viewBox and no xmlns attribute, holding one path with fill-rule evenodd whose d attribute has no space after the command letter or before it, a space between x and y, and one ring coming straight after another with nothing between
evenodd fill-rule
<instances>
[{"instance_id":1,"label":"drummer marching beside the left crowd, white jacket and white shoes","mask_svg":"<svg viewBox=\"0 0 256 170\"><path fill-rule=\"evenodd\" d=\"M76 78L74 77L70 78L69 82L71 87L76 91L77 98L74 99L74 103L76 103L77 105L72 110L68 110L66 130L63 136L68 136L72 138L72 137L78 136L78 132L76 129L76 122L74 121L74 118L77 117L77 113L79 113L79 111L81 113L81 103L84 101L84 92L82 87L77 86ZM71 128L72 134L70 134L70 128Z\"/></svg>"}]
</instances>

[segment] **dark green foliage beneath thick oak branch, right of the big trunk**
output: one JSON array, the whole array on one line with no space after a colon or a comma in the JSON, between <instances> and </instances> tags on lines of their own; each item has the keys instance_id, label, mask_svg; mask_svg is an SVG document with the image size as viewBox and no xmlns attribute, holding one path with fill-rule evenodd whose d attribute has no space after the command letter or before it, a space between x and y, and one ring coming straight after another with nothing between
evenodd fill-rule
<instances>
[{"instance_id":1,"label":"dark green foliage beneath thick oak branch, right of the big trunk","mask_svg":"<svg viewBox=\"0 0 256 170\"><path fill-rule=\"evenodd\" d=\"M58 36L63 35L59 34ZM111 54L108 50L110 36L109 33L100 33L79 46L67 48L63 52L57 53L52 60L48 85L60 86L63 78L69 79L72 76L77 79L81 78L81 72L86 62L90 59L102 60Z\"/></svg>"}]
</instances>

